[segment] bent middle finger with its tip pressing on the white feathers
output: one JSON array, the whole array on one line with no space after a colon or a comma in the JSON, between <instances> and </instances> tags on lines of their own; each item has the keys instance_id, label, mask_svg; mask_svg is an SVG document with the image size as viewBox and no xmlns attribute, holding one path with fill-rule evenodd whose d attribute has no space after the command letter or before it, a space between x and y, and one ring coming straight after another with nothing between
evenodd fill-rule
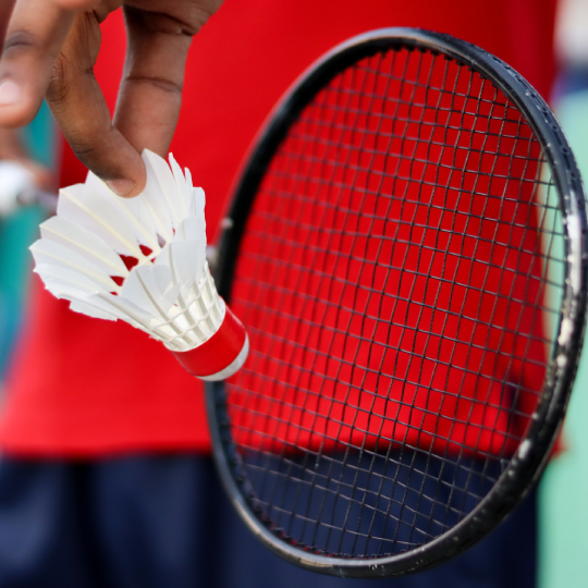
<instances>
[{"instance_id":1,"label":"bent middle finger with its tip pressing on the white feathers","mask_svg":"<svg viewBox=\"0 0 588 588\"><path fill-rule=\"evenodd\" d=\"M100 25L94 12L75 16L47 93L47 102L77 158L120 196L136 196L146 171L137 150L112 126L94 76Z\"/></svg>"}]
</instances>

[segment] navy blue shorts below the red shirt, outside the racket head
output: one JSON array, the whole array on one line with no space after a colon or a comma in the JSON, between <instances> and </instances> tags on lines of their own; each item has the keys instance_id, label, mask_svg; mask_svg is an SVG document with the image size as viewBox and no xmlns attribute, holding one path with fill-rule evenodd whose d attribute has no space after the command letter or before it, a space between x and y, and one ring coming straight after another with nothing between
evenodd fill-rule
<instances>
[{"instance_id":1,"label":"navy blue shorts below the red shirt, outside the racket head","mask_svg":"<svg viewBox=\"0 0 588 588\"><path fill-rule=\"evenodd\" d=\"M0 463L0 588L535 588L536 493L480 543L385 580L298 568L244 527L208 457Z\"/></svg>"}]
</instances>

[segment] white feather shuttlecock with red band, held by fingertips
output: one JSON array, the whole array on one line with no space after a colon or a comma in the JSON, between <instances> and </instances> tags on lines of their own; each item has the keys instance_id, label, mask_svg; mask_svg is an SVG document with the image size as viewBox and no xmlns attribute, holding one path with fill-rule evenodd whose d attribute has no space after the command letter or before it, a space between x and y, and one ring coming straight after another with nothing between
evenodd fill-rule
<instances>
[{"instance_id":1,"label":"white feather shuttlecock with red band, held by fingertips","mask_svg":"<svg viewBox=\"0 0 588 588\"><path fill-rule=\"evenodd\" d=\"M245 362L248 338L218 295L206 260L205 193L145 150L147 185L115 196L96 175L60 191L57 216L30 247L47 290L90 317L121 319L174 353L194 376L221 380Z\"/></svg>"}]
</instances>

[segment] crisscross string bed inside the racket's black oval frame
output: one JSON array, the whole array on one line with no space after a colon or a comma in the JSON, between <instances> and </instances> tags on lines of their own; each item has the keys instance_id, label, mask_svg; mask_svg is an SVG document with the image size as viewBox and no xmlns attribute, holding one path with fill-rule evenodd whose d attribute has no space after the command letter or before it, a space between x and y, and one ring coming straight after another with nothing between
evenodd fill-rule
<instances>
[{"instance_id":1,"label":"crisscross string bed inside the racket's black oval frame","mask_svg":"<svg viewBox=\"0 0 588 588\"><path fill-rule=\"evenodd\" d=\"M226 383L248 500L317 553L395 554L455 526L529 427L564 280L541 147L488 79L390 49L299 113L253 203Z\"/></svg>"}]
</instances>

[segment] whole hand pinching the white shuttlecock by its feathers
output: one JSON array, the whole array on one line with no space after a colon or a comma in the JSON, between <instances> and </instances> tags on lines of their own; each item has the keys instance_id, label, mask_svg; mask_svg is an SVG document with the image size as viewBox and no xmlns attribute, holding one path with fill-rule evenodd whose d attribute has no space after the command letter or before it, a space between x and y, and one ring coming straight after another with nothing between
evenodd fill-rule
<instances>
[{"instance_id":1,"label":"whole hand pinching the white shuttlecock by its feathers","mask_svg":"<svg viewBox=\"0 0 588 588\"><path fill-rule=\"evenodd\" d=\"M0 61L0 125L33 120L44 96L78 159L120 196L145 186L139 154L166 156L193 35L222 0L16 0ZM93 68L100 23L123 8L127 53L114 121Z\"/></svg>"}]
</instances>

